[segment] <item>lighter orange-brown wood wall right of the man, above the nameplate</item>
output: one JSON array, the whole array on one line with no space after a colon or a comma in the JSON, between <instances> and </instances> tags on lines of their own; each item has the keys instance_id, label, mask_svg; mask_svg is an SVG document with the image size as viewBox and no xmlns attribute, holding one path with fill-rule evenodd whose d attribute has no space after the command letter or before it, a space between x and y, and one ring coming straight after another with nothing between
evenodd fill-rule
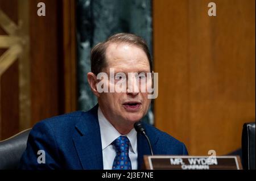
<instances>
[{"instance_id":1,"label":"lighter orange-brown wood wall right of the man, above the nameplate","mask_svg":"<svg viewBox=\"0 0 256 181\"><path fill-rule=\"evenodd\" d=\"M255 121L255 1L153 1L155 125L191 155L241 147Z\"/></svg>"}]
</instances>

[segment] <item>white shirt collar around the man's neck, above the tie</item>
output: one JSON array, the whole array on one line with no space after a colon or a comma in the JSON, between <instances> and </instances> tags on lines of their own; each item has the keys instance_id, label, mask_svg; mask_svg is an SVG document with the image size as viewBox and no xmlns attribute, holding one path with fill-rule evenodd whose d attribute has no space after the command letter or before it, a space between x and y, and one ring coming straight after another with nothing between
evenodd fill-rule
<instances>
[{"instance_id":1,"label":"white shirt collar around the man's neck, above the tie","mask_svg":"<svg viewBox=\"0 0 256 181\"><path fill-rule=\"evenodd\" d=\"M102 150L112 144L119 136L127 136L130 141L131 151L135 153L135 150L137 150L137 132L134 128L126 135L120 134L103 115L100 106L98 107L98 123L100 124Z\"/></svg>"}]
</instances>

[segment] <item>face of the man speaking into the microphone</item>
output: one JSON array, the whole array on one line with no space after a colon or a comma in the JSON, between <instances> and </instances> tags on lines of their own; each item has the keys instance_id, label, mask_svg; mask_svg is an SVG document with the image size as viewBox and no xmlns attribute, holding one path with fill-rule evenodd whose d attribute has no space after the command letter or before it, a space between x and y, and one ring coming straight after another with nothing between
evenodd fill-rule
<instances>
[{"instance_id":1,"label":"face of the man speaking into the microphone","mask_svg":"<svg viewBox=\"0 0 256 181\"><path fill-rule=\"evenodd\" d=\"M139 92L128 92L128 84L134 86L135 82L128 82L128 73L149 73L150 64L146 53L141 48L135 45L126 43L112 43L106 49L107 68L104 71L109 75L110 68L114 68L115 83L122 79L119 73L126 74L127 90L126 92L103 92L99 95L98 101L102 112L106 118L111 121L118 121L124 124L134 124L136 121L142 119L150 106L151 99L147 98L147 91L141 92L139 83ZM116 79L117 78L117 79ZM133 77L133 81L140 81L142 77ZM109 81L109 86L113 82ZM151 81L147 82L151 85ZM110 120L113 119L113 120ZM121 121L121 122L120 122Z\"/></svg>"}]
</instances>

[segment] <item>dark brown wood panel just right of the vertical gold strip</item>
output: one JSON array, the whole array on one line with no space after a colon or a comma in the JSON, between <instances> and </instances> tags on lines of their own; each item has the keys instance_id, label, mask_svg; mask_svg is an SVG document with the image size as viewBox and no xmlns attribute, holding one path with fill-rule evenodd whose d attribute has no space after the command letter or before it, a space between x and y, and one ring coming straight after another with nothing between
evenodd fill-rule
<instances>
[{"instance_id":1,"label":"dark brown wood panel just right of the vertical gold strip","mask_svg":"<svg viewBox=\"0 0 256 181\"><path fill-rule=\"evenodd\" d=\"M38 16L38 3L46 4L46 16ZM60 113L60 9L57 1L30 1L31 18L31 126Z\"/></svg>"}]
</instances>

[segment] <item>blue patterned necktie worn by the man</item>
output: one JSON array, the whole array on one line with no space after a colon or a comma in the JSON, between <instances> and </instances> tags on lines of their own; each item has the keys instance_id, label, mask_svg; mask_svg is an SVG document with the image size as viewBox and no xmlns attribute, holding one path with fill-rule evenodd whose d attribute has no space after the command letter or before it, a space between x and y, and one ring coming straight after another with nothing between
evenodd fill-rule
<instances>
[{"instance_id":1,"label":"blue patterned necktie worn by the man","mask_svg":"<svg viewBox=\"0 0 256 181\"><path fill-rule=\"evenodd\" d=\"M115 146L115 159L113 170L131 170L131 160L129 158L130 141L126 136L119 136L112 145Z\"/></svg>"}]
</instances>

